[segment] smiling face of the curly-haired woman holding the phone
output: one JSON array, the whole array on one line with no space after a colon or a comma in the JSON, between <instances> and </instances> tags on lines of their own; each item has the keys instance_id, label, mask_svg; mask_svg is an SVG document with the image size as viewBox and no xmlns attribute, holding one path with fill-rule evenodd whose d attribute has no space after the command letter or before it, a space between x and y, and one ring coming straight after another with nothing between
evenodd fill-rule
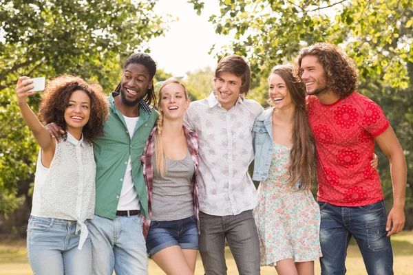
<instances>
[{"instance_id":1,"label":"smiling face of the curly-haired woman holding the phone","mask_svg":"<svg viewBox=\"0 0 413 275\"><path fill-rule=\"evenodd\" d=\"M83 129L83 126L89 121L90 107L90 98L85 91L76 90L72 93L65 108L65 122L68 132Z\"/></svg>"}]
</instances>

